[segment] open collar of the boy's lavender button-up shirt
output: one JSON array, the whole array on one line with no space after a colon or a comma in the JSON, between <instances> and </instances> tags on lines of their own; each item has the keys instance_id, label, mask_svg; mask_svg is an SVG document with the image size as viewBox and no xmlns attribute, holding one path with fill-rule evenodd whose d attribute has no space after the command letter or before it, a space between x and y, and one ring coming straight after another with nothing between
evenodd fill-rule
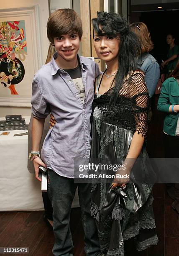
<instances>
[{"instance_id":1,"label":"open collar of the boy's lavender button-up shirt","mask_svg":"<svg viewBox=\"0 0 179 256\"><path fill-rule=\"evenodd\" d=\"M64 69L60 69L59 66L56 64L56 61L55 61L56 58L57 58L57 53L54 53L54 56L51 59L51 75L55 75L59 70L61 73L66 73ZM81 69L85 70L84 66L90 65L89 63L87 63L87 58L79 56L78 54L77 54L77 58L79 60Z\"/></svg>"}]
</instances>

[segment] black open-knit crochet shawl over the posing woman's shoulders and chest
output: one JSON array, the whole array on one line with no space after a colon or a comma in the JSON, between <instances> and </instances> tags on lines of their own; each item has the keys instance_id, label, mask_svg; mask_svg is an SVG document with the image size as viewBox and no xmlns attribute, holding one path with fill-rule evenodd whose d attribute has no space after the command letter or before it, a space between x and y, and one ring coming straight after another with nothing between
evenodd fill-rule
<instances>
[{"instance_id":1,"label":"black open-knit crochet shawl over the posing woman's shoulders and chest","mask_svg":"<svg viewBox=\"0 0 179 256\"><path fill-rule=\"evenodd\" d=\"M98 91L98 90L97 90ZM102 95L95 95L95 108L102 113L102 121L120 128L138 131L146 136L148 128L148 90L141 73L135 73L123 82L115 106L109 107L113 87Z\"/></svg>"}]
</instances>

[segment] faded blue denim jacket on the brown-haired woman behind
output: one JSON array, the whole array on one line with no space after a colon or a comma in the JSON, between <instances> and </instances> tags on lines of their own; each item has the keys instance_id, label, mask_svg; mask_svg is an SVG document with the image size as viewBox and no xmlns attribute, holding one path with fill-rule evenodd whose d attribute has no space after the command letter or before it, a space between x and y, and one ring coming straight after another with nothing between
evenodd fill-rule
<instances>
[{"instance_id":1,"label":"faded blue denim jacket on the brown-haired woman behind","mask_svg":"<svg viewBox=\"0 0 179 256\"><path fill-rule=\"evenodd\" d=\"M138 58L138 68L143 70L145 74L144 79L147 85L149 97L151 98L155 92L156 85L160 77L159 64L151 54L146 52Z\"/></svg>"}]
</instances>

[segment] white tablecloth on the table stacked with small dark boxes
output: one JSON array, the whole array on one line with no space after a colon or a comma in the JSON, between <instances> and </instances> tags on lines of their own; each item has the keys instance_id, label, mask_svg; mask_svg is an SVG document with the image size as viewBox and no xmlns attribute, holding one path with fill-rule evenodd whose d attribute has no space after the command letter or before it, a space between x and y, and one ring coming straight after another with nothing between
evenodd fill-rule
<instances>
[{"instance_id":1,"label":"white tablecloth on the table stacked with small dark boxes","mask_svg":"<svg viewBox=\"0 0 179 256\"><path fill-rule=\"evenodd\" d=\"M30 117L23 118L28 124ZM43 210L41 182L27 169L28 136L13 137L26 131L9 132L0 136L0 211ZM78 206L76 195L73 207Z\"/></svg>"}]
</instances>

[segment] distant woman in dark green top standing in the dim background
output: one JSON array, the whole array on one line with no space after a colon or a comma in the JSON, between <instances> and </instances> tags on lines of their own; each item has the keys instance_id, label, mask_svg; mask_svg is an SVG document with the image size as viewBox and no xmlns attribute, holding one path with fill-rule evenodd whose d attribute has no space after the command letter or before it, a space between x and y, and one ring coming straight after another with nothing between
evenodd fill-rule
<instances>
[{"instance_id":1,"label":"distant woman in dark green top standing in the dim background","mask_svg":"<svg viewBox=\"0 0 179 256\"><path fill-rule=\"evenodd\" d=\"M176 67L176 63L178 61L178 54L179 54L179 46L175 45L175 36L173 34L168 34L166 36L166 42L169 44L169 51L167 55L166 61L164 61L161 66L164 67L167 65L167 77L169 74L174 70Z\"/></svg>"}]
</instances>

